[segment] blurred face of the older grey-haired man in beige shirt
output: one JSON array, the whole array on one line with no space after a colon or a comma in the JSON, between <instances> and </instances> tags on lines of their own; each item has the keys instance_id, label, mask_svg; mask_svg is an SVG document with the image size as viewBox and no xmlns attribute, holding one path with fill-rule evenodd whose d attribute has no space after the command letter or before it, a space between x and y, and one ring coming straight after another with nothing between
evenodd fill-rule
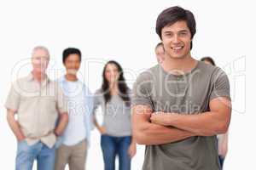
<instances>
[{"instance_id":1,"label":"blurred face of the older grey-haired man in beige shirt","mask_svg":"<svg viewBox=\"0 0 256 170\"><path fill-rule=\"evenodd\" d=\"M33 71L45 73L49 64L49 54L44 49L37 49L32 54Z\"/></svg>"}]
</instances>

